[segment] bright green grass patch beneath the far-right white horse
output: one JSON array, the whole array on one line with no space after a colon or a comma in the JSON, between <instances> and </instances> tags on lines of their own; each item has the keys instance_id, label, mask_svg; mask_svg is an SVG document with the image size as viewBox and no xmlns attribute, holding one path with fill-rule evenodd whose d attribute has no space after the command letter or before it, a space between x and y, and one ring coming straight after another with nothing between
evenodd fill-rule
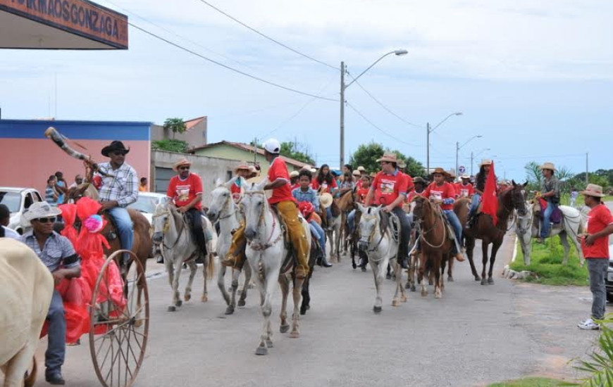
<instances>
[{"instance_id":1,"label":"bright green grass patch beneath the far-right white horse","mask_svg":"<svg viewBox=\"0 0 613 387\"><path fill-rule=\"evenodd\" d=\"M538 279L528 278L525 281L543 285L578 285L590 284L587 265L579 267L579 258L571 243L568 265L562 265L564 248L559 237L545 239L545 244L532 242L531 265L524 265L524 254L517 242L517 258L511 264L516 272L528 270L538 276ZM570 243L570 241L569 241Z\"/></svg>"}]
</instances>

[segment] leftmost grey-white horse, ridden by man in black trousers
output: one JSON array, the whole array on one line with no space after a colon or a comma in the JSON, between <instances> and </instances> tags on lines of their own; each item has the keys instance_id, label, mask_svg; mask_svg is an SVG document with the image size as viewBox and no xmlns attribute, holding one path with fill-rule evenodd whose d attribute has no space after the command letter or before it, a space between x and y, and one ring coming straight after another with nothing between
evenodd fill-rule
<instances>
[{"instance_id":1,"label":"leftmost grey-white horse, ridden by man in black trousers","mask_svg":"<svg viewBox=\"0 0 613 387\"><path fill-rule=\"evenodd\" d=\"M202 227L214 234L211 222L204 216L202 216ZM183 262L190 267L190 279L187 281L187 286L185 287L184 298L186 301L192 298L192 283L194 282L197 269L194 260L199 254L199 247L192 237L190 224L171 203L159 203L156 205L152 228L154 229L154 243L163 247L161 248L161 252L164 258L166 272L168 272L168 283L173 289L173 300L171 305L168 305L168 312L174 312L177 310L177 307L182 305L178 289ZM203 303L209 300L206 291L206 280L212 278L215 263L212 253L214 248L213 239L207 242L206 245L208 252L206 257L204 257L204 265L202 267L202 274L204 276L204 291L202 292ZM208 276L207 272L209 273Z\"/></svg>"}]
</instances>

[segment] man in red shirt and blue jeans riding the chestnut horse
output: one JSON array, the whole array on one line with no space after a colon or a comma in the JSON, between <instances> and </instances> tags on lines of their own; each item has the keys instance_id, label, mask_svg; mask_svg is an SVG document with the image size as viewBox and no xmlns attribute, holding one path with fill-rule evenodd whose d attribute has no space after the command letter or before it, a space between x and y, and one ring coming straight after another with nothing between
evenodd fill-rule
<instances>
[{"instance_id":1,"label":"man in red shirt and blue jeans riding the chestnut horse","mask_svg":"<svg viewBox=\"0 0 613 387\"><path fill-rule=\"evenodd\" d=\"M464 256L460 251L460 243L462 243L462 223L460 223L457 215L453 212L453 203L455 202L454 184L445 182L445 178L449 177L449 173L442 168L435 168L432 172L434 181L423 191L423 197L429 198L431 202L440 205L440 209L445 214L445 217L450 222L455 231L455 243L452 254L458 262L464 261Z\"/></svg>"}]
</instances>

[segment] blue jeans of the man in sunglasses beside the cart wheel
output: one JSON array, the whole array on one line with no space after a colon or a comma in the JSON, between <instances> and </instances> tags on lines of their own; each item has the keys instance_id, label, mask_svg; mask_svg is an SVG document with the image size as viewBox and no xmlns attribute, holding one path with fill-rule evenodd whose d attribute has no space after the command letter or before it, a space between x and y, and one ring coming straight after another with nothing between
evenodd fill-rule
<instances>
[{"instance_id":1,"label":"blue jeans of the man in sunglasses beside the cart wheel","mask_svg":"<svg viewBox=\"0 0 613 387\"><path fill-rule=\"evenodd\" d=\"M51 298L49 312L49 333L47 337L47 352L44 353L44 365L47 367L47 374L61 372L66 355L66 318L64 317L64 304L62 296L54 290Z\"/></svg>"}]
</instances>

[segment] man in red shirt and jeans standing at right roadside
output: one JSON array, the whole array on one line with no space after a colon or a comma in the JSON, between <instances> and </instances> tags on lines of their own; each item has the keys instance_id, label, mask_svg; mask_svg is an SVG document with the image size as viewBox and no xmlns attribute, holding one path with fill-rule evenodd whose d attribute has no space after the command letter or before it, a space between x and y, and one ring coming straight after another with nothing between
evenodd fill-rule
<instances>
[{"instance_id":1,"label":"man in red shirt and jeans standing at right roadside","mask_svg":"<svg viewBox=\"0 0 613 387\"><path fill-rule=\"evenodd\" d=\"M592 291L592 317L580 322L580 329L600 329L594 320L605 318L605 305L607 303L607 288L605 287L605 276L609 267L609 234L613 233L613 215L602 203L600 198L602 186L588 184L585 191L581 191L585 196L585 203L590 208L586 225L586 234L577 236L581 242L583 256L588 261L588 272L590 272L590 291Z\"/></svg>"}]
</instances>

